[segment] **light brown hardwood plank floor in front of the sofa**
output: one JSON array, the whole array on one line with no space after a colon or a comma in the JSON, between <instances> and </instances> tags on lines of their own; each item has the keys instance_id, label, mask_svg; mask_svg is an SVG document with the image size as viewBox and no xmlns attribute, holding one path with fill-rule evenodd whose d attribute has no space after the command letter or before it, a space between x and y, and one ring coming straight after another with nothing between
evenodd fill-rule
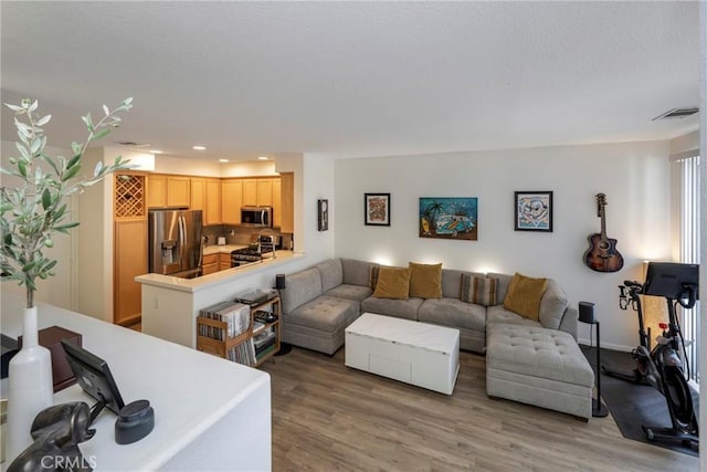
<instances>
[{"instance_id":1,"label":"light brown hardwood plank floor in front of the sofa","mask_svg":"<svg viewBox=\"0 0 707 472\"><path fill-rule=\"evenodd\" d=\"M624 439L611 416L486 396L484 357L462 352L452 396L293 348L272 376L273 470L696 471L696 457Z\"/></svg>"}]
</instances>

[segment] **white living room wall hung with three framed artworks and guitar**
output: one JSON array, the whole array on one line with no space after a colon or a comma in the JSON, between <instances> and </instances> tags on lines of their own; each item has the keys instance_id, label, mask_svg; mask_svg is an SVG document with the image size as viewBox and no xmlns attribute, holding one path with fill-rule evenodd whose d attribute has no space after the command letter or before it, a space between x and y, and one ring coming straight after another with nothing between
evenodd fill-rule
<instances>
[{"instance_id":1,"label":"white living room wall hung with three framed artworks and guitar","mask_svg":"<svg viewBox=\"0 0 707 472\"><path fill-rule=\"evenodd\" d=\"M637 342L636 316L619 308L616 286L642 279L644 259L669 259L668 154L669 143L651 141L337 160L335 252L553 277L572 305L595 303L602 345L627 349ZM518 190L553 191L552 233L514 231ZM363 224L365 192L391 193L390 227ZM624 258L616 273L583 263L587 238L600 230L599 192L608 197L608 235ZM477 197L478 240L419 238L420 197ZM588 326L579 337L589 338Z\"/></svg>"}]
</instances>

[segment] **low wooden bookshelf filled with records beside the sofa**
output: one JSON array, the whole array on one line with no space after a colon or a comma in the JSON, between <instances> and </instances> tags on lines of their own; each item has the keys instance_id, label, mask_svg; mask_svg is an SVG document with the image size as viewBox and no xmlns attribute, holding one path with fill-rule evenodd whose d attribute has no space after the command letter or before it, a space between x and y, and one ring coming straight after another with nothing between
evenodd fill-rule
<instances>
[{"instance_id":1,"label":"low wooden bookshelf filled with records beside the sofa","mask_svg":"<svg viewBox=\"0 0 707 472\"><path fill-rule=\"evenodd\" d=\"M268 311L263 310L268 306L271 307ZM263 328L263 331L270 329L272 327L273 331L275 332L275 344L273 345L273 348L266 349L264 353L255 356L255 364L253 364L251 367L261 366L265 360L270 359L271 357L273 357L275 354L279 352L279 343L282 337L282 327L281 327L282 303L281 303L279 296L275 296L263 303L251 306L251 321L247 329L245 329L245 332L232 338L229 338L225 335L225 333L228 332L228 325L225 322L220 322L218 319L211 319L211 318L198 316L197 317L197 349L228 359L229 352L232 348L243 343L252 342L251 339L253 339L253 337L257 335L257 333L260 333L260 331L257 333L253 332L253 325L255 323L255 316L262 312L272 312L277 316L277 319L275 319L272 323L264 323L265 327ZM223 333L223 336L221 336L223 339L214 339L208 336L202 336L200 334L202 333L202 329L201 329L202 326L204 327L210 326L212 328L221 331L221 333Z\"/></svg>"}]
</instances>

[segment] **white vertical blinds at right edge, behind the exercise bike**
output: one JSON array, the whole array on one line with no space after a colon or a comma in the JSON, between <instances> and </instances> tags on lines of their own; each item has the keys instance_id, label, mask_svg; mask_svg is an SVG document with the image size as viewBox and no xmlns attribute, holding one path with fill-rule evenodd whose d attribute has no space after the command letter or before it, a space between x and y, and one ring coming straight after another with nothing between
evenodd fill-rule
<instances>
[{"instance_id":1,"label":"white vertical blinds at right edge, behind the exercise bike","mask_svg":"<svg viewBox=\"0 0 707 472\"><path fill-rule=\"evenodd\" d=\"M699 264L699 156L676 160L679 166L679 250L683 263ZM689 375L699 384L699 302L692 310L679 308Z\"/></svg>"}]
</instances>

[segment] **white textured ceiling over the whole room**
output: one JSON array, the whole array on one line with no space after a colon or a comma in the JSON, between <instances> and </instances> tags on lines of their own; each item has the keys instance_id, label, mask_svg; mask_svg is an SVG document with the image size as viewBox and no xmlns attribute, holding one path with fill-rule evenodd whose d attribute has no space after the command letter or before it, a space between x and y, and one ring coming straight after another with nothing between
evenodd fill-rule
<instances>
[{"instance_id":1,"label":"white textured ceiling over the whole room","mask_svg":"<svg viewBox=\"0 0 707 472\"><path fill-rule=\"evenodd\" d=\"M697 2L8 2L2 101L55 146L133 96L108 143L366 157L666 139L698 116ZM13 140L2 112L2 139ZM208 150L191 150L203 144Z\"/></svg>"}]
</instances>

